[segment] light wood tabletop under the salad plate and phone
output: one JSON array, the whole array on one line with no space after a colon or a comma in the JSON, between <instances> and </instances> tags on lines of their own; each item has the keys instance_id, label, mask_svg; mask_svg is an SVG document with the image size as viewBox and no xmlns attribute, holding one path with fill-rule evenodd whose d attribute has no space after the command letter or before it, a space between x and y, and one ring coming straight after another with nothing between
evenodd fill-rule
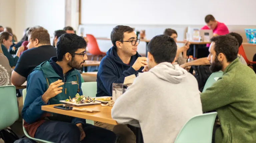
<instances>
[{"instance_id":1,"label":"light wood tabletop under the salad plate and phone","mask_svg":"<svg viewBox=\"0 0 256 143\"><path fill-rule=\"evenodd\" d=\"M62 115L68 115L72 117L82 118L82 119L88 119L103 123L108 123L112 125L117 125L117 122L112 119L111 117L111 109L110 106L101 106L100 104L97 105L88 105L88 106L75 106L77 108L87 108L91 110L98 110L100 112L95 113L89 113L89 112L81 112L81 111L72 111L72 110L62 110L54 108L53 106L62 105L62 104L55 104L55 105L45 105L42 106L42 110L62 114Z\"/></svg>"}]
</instances>

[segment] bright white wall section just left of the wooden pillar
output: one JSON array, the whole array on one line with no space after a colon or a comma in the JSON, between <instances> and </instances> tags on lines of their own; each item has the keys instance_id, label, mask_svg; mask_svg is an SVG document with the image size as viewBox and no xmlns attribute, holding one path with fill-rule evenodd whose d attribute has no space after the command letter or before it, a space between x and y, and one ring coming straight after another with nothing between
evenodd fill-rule
<instances>
[{"instance_id":1,"label":"bright white wall section just left of the wooden pillar","mask_svg":"<svg viewBox=\"0 0 256 143\"><path fill-rule=\"evenodd\" d=\"M22 38L24 29L42 26L52 37L65 26L65 0L16 0L15 34Z\"/></svg>"}]
</instances>

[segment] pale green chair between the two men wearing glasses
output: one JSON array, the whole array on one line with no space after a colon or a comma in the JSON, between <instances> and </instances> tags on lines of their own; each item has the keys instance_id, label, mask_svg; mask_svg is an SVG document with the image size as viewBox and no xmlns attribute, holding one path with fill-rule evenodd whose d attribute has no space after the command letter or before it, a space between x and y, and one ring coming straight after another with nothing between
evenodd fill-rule
<instances>
[{"instance_id":1,"label":"pale green chair between the two men wearing glasses","mask_svg":"<svg viewBox=\"0 0 256 143\"><path fill-rule=\"evenodd\" d=\"M96 97L97 82L83 82L81 85L83 95L89 97ZM94 121L86 120L86 123L94 125Z\"/></svg>"}]
</instances>

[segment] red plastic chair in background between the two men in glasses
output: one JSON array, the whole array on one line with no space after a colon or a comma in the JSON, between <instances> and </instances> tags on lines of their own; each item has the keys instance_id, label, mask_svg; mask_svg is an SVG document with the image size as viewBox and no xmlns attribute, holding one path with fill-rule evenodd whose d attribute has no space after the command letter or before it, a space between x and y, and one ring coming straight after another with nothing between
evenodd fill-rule
<instances>
[{"instance_id":1,"label":"red plastic chair in background between the two men in glasses","mask_svg":"<svg viewBox=\"0 0 256 143\"><path fill-rule=\"evenodd\" d=\"M86 37L88 40L87 50L90 54L92 54L91 60L93 60L93 58L97 56L97 61L99 61L99 57L105 56L106 53L100 51L97 40L93 35L86 34Z\"/></svg>"}]
</instances>

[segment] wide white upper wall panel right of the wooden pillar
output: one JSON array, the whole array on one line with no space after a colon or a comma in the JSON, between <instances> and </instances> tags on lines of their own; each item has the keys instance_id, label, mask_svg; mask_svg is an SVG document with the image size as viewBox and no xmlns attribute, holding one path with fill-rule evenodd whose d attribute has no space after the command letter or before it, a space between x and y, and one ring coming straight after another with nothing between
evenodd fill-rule
<instances>
[{"instance_id":1,"label":"wide white upper wall panel right of the wooden pillar","mask_svg":"<svg viewBox=\"0 0 256 143\"><path fill-rule=\"evenodd\" d=\"M82 0L81 23L203 25L212 14L226 25L255 25L255 5L256 0Z\"/></svg>"}]
</instances>

